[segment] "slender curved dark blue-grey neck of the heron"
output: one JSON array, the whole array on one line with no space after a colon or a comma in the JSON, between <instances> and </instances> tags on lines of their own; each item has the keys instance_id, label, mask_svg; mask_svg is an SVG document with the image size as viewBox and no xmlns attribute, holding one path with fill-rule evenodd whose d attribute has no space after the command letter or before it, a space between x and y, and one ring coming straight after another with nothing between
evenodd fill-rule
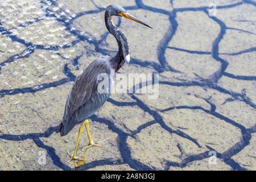
<instances>
[{"instance_id":1,"label":"slender curved dark blue-grey neck of the heron","mask_svg":"<svg viewBox=\"0 0 256 182\"><path fill-rule=\"evenodd\" d=\"M107 10L105 13L106 27L108 28L110 34L112 34L117 40L119 47L117 55L113 57L111 64L113 65L115 71L118 71L122 65L125 64L125 61L130 61L129 45L125 34L123 34L123 32L113 24L112 18L113 16Z\"/></svg>"}]
</instances>

